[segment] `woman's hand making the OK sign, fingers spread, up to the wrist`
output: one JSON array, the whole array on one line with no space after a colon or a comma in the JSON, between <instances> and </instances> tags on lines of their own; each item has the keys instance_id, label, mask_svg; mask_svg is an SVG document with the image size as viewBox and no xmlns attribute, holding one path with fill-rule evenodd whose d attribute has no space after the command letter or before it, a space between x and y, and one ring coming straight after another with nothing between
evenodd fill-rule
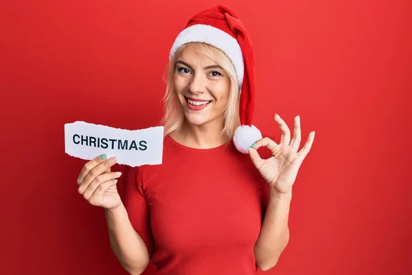
<instances>
[{"instance_id":1,"label":"woman's hand making the OK sign, fingers spread, up to the wrist","mask_svg":"<svg viewBox=\"0 0 412 275\"><path fill-rule=\"evenodd\" d=\"M304 148L298 152L301 142L299 115L295 117L292 142L290 142L288 126L277 114L275 114L275 122L279 124L279 128L282 131L280 143L277 144L270 138L264 137L249 147L249 154L253 164L255 164L262 177L268 182L271 191L277 192L280 195L291 195L292 186L295 183L299 167L312 147L314 131L309 133ZM272 157L268 159L260 157L257 150L262 146L265 146L272 152Z\"/></svg>"}]
</instances>

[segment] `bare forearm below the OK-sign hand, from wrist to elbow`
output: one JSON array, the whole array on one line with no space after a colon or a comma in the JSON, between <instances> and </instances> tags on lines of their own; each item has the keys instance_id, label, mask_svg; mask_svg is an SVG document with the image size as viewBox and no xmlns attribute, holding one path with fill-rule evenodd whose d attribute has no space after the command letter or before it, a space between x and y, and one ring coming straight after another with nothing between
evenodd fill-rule
<instances>
[{"instance_id":1,"label":"bare forearm below the OK-sign hand, from wrist to elbow","mask_svg":"<svg viewBox=\"0 0 412 275\"><path fill-rule=\"evenodd\" d=\"M270 191L260 235L255 243L255 259L260 270L273 267L288 244L291 199L291 194Z\"/></svg>"}]
</instances>

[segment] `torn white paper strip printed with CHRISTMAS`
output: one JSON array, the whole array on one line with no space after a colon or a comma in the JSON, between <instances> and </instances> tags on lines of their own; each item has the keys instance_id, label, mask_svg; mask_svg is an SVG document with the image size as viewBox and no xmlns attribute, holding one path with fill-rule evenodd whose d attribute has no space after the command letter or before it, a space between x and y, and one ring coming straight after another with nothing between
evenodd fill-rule
<instances>
[{"instance_id":1,"label":"torn white paper strip printed with CHRISTMAS","mask_svg":"<svg viewBox=\"0 0 412 275\"><path fill-rule=\"evenodd\" d=\"M106 154L128 166L161 164L163 126L124 130L82 121L67 123L65 152L87 160Z\"/></svg>"}]
</instances>

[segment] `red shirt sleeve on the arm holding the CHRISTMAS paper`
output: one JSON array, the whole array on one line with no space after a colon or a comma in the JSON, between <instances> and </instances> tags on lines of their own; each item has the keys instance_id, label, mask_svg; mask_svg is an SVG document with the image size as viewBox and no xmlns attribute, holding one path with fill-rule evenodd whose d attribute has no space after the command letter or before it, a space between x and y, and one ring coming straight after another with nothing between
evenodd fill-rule
<instances>
[{"instance_id":1,"label":"red shirt sleeve on the arm holding the CHRISTMAS paper","mask_svg":"<svg viewBox=\"0 0 412 275\"><path fill-rule=\"evenodd\" d=\"M150 213L139 167L126 166L123 193L123 203L130 222L144 240L151 259L155 252L155 242L150 228Z\"/></svg>"}]
</instances>

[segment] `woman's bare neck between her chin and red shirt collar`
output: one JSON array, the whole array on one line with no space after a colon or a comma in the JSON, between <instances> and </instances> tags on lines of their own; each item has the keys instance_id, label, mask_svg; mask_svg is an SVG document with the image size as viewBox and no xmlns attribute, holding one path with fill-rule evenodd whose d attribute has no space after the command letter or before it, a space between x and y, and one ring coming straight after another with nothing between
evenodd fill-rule
<instances>
[{"instance_id":1,"label":"woman's bare neck between her chin and red shirt collar","mask_svg":"<svg viewBox=\"0 0 412 275\"><path fill-rule=\"evenodd\" d=\"M191 148L208 149L225 144L222 137L223 122L211 121L207 124L194 125L185 120L179 131L172 134L176 142Z\"/></svg>"}]
</instances>

